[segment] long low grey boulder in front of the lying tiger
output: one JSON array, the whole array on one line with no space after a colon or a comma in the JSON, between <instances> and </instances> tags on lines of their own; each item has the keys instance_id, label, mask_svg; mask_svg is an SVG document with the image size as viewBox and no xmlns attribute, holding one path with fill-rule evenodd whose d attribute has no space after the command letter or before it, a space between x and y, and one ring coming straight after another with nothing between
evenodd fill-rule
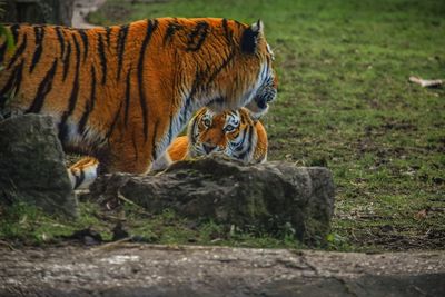
<instances>
[{"instance_id":1,"label":"long low grey boulder in front of the lying tiger","mask_svg":"<svg viewBox=\"0 0 445 297\"><path fill-rule=\"evenodd\" d=\"M243 166L204 158L177 162L157 175L102 176L90 188L96 199L119 195L154 214L168 208L250 232L293 232L305 241L329 231L334 210L330 171L289 162Z\"/></svg>"}]
</instances>

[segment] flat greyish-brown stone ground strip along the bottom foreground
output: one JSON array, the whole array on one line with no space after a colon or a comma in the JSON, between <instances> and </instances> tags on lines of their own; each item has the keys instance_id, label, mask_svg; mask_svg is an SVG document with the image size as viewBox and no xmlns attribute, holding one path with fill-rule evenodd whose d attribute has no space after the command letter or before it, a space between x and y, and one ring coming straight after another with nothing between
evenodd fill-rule
<instances>
[{"instance_id":1,"label":"flat greyish-brown stone ground strip along the bottom foreground","mask_svg":"<svg viewBox=\"0 0 445 297\"><path fill-rule=\"evenodd\" d=\"M0 247L0 296L443 296L445 253Z\"/></svg>"}]
</instances>

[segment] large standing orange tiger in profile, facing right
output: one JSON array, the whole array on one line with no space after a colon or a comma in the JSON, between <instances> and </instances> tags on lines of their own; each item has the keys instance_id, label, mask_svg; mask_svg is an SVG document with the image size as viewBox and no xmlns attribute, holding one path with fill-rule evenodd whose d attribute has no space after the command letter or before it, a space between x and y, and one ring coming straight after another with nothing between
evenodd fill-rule
<instances>
[{"instance_id":1,"label":"large standing orange tiger in profile, facing right","mask_svg":"<svg viewBox=\"0 0 445 297\"><path fill-rule=\"evenodd\" d=\"M276 97L260 21L9 28L17 47L1 41L0 112L52 116L66 151L98 158L102 171L147 172L202 106L260 113Z\"/></svg>"}]
</instances>

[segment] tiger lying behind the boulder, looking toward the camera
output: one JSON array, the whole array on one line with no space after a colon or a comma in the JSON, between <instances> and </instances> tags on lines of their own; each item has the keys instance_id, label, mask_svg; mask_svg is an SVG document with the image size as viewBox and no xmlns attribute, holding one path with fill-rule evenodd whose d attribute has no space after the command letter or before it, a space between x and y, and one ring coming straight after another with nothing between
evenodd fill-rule
<instances>
[{"instance_id":1,"label":"tiger lying behind the boulder, looking toward the camera","mask_svg":"<svg viewBox=\"0 0 445 297\"><path fill-rule=\"evenodd\" d=\"M190 120L187 136L177 137L165 160L158 159L154 167L164 169L169 162L207 155L226 156L244 164L265 162L266 130L246 108L216 113L204 107Z\"/></svg>"}]
</instances>

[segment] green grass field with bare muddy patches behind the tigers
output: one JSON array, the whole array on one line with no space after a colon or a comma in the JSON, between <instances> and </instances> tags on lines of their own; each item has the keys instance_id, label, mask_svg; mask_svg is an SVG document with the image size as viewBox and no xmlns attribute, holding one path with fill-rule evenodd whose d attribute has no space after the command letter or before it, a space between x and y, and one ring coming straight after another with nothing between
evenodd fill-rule
<instances>
[{"instance_id":1,"label":"green grass field with bare muddy patches behind the tigers","mask_svg":"<svg viewBox=\"0 0 445 297\"><path fill-rule=\"evenodd\" d=\"M408 82L412 75L445 79L444 1L109 0L89 20L161 16L264 21L279 75L264 119L269 160L333 171L330 248L445 247L445 90ZM240 238L289 246L250 239Z\"/></svg>"}]
</instances>

